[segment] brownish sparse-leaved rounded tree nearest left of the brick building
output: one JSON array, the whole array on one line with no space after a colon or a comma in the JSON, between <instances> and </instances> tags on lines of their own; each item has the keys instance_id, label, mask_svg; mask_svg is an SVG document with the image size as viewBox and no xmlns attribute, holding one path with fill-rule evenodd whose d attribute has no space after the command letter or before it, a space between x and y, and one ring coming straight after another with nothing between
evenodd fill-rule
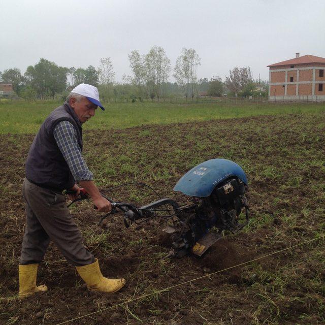
<instances>
[{"instance_id":1,"label":"brownish sparse-leaved rounded tree nearest left of the brick building","mask_svg":"<svg viewBox=\"0 0 325 325\"><path fill-rule=\"evenodd\" d=\"M235 96L242 91L245 86L252 81L252 72L250 67L235 67L233 70L229 70L229 77L225 77L226 87L235 92Z\"/></svg>"}]
</instances>

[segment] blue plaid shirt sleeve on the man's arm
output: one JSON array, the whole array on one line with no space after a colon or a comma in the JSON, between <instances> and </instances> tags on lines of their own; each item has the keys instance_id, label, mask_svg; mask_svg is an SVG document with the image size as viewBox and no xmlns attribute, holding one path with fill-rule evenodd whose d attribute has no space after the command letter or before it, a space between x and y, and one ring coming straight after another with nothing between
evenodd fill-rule
<instances>
[{"instance_id":1,"label":"blue plaid shirt sleeve on the man's arm","mask_svg":"<svg viewBox=\"0 0 325 325\"><path fill-rule=\"evenodd\" d=\"M92 180L93 174L82 156L74 126L68 121L61 121L54 127L53 136L75 180Z\"/></svg>"}]
</instances>

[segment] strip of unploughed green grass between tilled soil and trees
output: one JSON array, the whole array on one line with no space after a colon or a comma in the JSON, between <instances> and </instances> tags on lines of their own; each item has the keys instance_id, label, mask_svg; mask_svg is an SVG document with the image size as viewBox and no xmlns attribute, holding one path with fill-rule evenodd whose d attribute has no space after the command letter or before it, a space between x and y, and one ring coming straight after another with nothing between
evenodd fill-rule
<instances>
[{"instance_id":1,"label":"strip of unploughed green grass between tilled soil and trees","mask_svg":"<svg viewBox=\"0 0 325 325\"><path fill-rule=\"evenodd\" d=\"M61 105L59 102L0 101L0 134L35 134L46 116ZM269 103L117 103L106 104L84 129L121 129L143 124L200 122L212 119L240 118L257 115L278 115L325 112L322 104Z\"/></svg>"}]
</instances>

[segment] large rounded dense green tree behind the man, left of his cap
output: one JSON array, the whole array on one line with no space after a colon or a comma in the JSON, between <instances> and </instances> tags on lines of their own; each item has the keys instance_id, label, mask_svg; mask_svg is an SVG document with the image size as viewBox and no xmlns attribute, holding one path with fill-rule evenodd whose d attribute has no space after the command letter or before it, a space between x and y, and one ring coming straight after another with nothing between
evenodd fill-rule
<instances>
[{"instance_id":1,"label":"large rounded dense green tree behind the man, left of his cap","mask_svg":"<svg viewBox=\"0 0 325 325\"><path fill-rule=\"evenodd\" d=\"M66 89L68 71L68 68L58 67L56 63L41 58L34 67L27 67L24 77L38 97L45 94L54 96Z\"/></svg>"}]
</instances>

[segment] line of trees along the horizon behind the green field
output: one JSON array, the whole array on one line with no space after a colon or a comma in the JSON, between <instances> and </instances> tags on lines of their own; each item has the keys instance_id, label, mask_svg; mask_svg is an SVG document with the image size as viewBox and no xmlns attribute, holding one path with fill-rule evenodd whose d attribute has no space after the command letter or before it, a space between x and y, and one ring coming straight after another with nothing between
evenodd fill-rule
<instances>
[{"instance_id":1,"label":"line of trees along the horizon behind the green field","mask_svg":"<svg viewBox=\"0 0 325 325\"><path fill-rule=\"evenodd\" d=\"M25 99L64 97L80 83L99 88L103 100L110 98L157 99L177 95L194 100L199 95L250 96L265 95L267 82L252 79L249 67L235 67L222 81L220 77L198 80L201 58L196 50L183 48L172 69L165 50L153 46L147 54L134 50L128 55L131 76L124 75L122 82L115 81L111 58L101 58L97 68L60 67L55 62L41 58L35 66L29 66L24 74L18 68L0 72L0 80L11 82L14 92ZM171 83L173 76L176 82ZM257 87L257 86L260 87ZM257 92L256 92L257 89ZM263 93L261 93L263 92Z\"/></svg>"}]
</instances>

